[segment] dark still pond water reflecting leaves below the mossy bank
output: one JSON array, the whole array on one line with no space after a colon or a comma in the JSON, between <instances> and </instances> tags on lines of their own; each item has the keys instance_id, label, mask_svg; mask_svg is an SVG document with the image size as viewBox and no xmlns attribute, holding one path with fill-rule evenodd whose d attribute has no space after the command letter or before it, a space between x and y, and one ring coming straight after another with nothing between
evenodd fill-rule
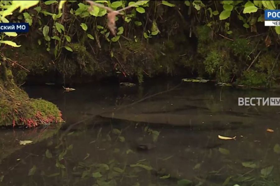
<instances>
[{"instance_id":1,"label":"dark still pond water reflecting leaves below the mossy bank","mask_svg":"<svg viewBox=\"0 0 280 186\"><path fill-rule=\"evenodd\" d=\"M25 87L66 123L2 129L0 185L280 185L279 107L238 106L279 92L179 83Z\"/></svg>"}]
</instances>

